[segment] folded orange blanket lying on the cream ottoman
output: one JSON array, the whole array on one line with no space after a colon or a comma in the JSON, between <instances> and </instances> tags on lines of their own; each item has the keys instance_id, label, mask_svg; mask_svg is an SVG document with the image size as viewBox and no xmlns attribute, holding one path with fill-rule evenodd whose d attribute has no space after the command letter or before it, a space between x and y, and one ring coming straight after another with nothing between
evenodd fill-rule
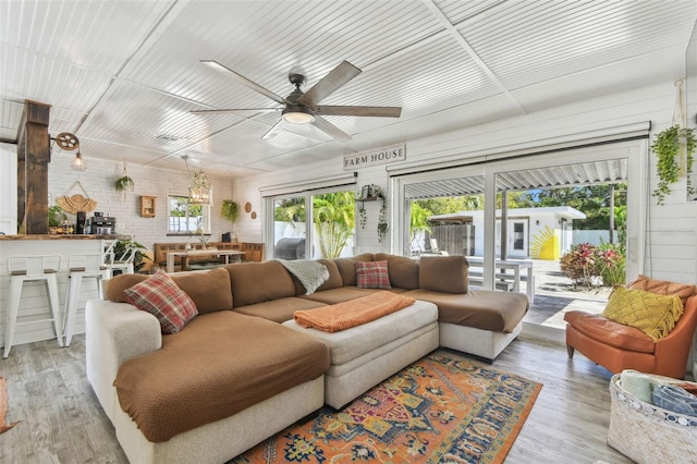
<instances>
[{"instance_id":1,"label":"folded orange blanket lying on the cream ottoman","mask_svg":"<svg viewBox=\"0 0 697 464\"><path fill-rule=\"evenodd\" d=\"M412 297L391 292L376 292L335 305L296 310L293 313L293 318L305 328L338 332L405 308L414 301Z\"/></svg>"}]
</instances>

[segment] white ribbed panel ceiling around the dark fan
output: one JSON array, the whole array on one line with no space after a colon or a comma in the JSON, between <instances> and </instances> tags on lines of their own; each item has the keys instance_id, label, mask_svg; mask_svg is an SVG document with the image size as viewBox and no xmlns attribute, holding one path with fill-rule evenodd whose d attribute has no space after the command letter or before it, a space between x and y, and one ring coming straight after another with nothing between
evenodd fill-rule
<instances>
[{"instance_id":1,"label":"white ribbed panel ceiling around the dark fan","mask_svg":"<svg viewBox=\"0 0 697 464\"><path fill-rule=\"evenodd\" d=\"M0 141L28 99L87 162L273 171L678 78L696 20L695 0L3 0ZM279 112L189 112L278 106L204 59L281 96L291 69L308 89L347 60L363 73L322 103L402 117L326 117L347 142L298 125L264 139Z\"/></svg>"}]
</instances>

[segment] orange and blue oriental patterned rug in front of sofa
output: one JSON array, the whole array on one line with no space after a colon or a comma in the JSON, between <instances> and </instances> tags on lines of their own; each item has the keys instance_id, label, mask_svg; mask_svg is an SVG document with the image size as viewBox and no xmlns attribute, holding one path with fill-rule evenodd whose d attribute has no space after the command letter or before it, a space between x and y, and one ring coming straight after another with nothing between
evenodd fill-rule
<instances>
[{"instance_id":1,"label":"orange and blue oriental patterned rug in front of sofa","mask_svg":"<svg viewBox=\"0 0 697 464\"><path fill-rule=\"evenodd\" d=\"M501 463L541 388L436 352L230 463Z\"/></svg>"}]
</instances>

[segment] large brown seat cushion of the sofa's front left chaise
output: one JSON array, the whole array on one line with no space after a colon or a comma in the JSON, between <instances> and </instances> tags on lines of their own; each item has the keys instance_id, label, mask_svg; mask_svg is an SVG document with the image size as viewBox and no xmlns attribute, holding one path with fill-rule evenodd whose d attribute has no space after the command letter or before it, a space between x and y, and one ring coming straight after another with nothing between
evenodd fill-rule
<instances>
[{"instance_id":1,"label":"large brown seat cushion of the sofa's front left chaise","mask_svg":"<svg viewBox=\"0 0 697 464\"><path fill-rule=\"evenodd\" d=\"M321 341L260 317L218 312L163 335L161 350L124 362L114 387L143 435L161 442L314 380L328 367Z\"/></svg>"}]
</instances>

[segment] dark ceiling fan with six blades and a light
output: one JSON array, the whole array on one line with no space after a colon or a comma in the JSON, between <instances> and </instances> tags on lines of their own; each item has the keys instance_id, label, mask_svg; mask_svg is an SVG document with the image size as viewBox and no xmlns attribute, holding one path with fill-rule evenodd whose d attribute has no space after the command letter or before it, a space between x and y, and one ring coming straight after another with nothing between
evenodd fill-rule
<instances>
[{"instance_id":1,"label":"dark ceiling fan with six blades and a light","mask_svg":"<svg viewBox=\"0 0 697 464\"><path fill-rule=\"evenodd\" d=\"M219 71L239 83L246 85L253 90L258 91L272 99L273 101L283 105L277 108L240 108L240 109L224 109L224 110L196 110L192 111L194 114L225 114L225 113L239 113L239 112L272 112L281 111L282 119L271 127L264 138L269 138L276 135L283 129L284 122L292 124L313 124L320 131L331 135L339 141L348 141L351 136L327 121L323 115L348 115L348 117L374 117L374 118L399 118L402 114L402 108L400 107L337 107L337 106L319 106L322 99L333 94L342 85L362 73L362 71L351 64L347 61L342 61L337 68L331 70L329 74L319 80L309 90L301 90L301 86L305 83L306 77L303 74L291 71L288 75L288 80L291 84L295 85L293 90L288 97L283 98L271 90L260 86L259 84L246 78L242 74L232 71L231 69L220 64L213 60L200 60L201 63Z\"/></svg>"}]
</instances>

